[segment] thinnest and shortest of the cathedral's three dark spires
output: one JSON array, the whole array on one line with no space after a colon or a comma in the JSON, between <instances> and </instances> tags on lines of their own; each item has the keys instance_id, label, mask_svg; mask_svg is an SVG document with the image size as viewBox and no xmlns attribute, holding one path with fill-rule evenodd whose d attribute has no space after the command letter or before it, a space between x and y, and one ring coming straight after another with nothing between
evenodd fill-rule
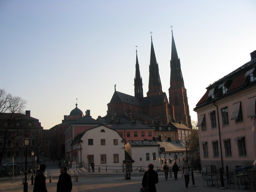
<instances>
[{"instance_id":1,"label":"thinnest and shortest of the cathedral's three dark spires","mask_svg":"<svg viewBox=\"0 0 256 192\"><path fill-rule=\"evenodd\" d=\"M139 100L143 99L143 88L142 88L142 78L140 77L140 66L138 62L138 55L137 55L137 46L136 46L136 71L135 71L135 78L134 78L134 96Z\"/></svg>"}]
</instances>

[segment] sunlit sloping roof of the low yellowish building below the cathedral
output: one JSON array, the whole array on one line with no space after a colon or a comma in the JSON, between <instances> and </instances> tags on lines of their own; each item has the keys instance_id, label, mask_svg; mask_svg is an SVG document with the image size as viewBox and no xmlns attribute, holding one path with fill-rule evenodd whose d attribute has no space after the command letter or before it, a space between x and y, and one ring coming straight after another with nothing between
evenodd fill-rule
<instances>
[{"instance_id":1,"label":"sunlit sloping roof of the low yellowish building below the cathedral","mask_svg":"<svg viewBox=\"0 0 256 192\"><path fill-rule=\"evenodd\" d=\"M186 150L184 143L180 140L171 140L171 141L156 141L160 148L163 147L165 152L168 151L184 151Z\"/></svg>"}]
</instances>

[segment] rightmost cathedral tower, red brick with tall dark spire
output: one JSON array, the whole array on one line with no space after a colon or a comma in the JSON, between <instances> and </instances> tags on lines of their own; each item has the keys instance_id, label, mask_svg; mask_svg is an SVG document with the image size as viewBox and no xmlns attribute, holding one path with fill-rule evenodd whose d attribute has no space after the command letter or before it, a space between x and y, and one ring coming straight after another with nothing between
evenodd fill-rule
<instances>
[{"instance_id":1,"label":"rightmost cathedral tower, red brick with tall dark spire","mask_svg":"<svg viewBox=\"0 0 256 192\"><path fill-rule=\"evenodd\" d=\"M191 117L189 114L187 90L184 86L184 80L180 68L180 59L176 50L173 32L172 32L172 52L171 52L171 76L169 88L169 102L174 106L174 114L176 121L181 121L183 124L192 128Z\"/></svg>"}]
</instances>

